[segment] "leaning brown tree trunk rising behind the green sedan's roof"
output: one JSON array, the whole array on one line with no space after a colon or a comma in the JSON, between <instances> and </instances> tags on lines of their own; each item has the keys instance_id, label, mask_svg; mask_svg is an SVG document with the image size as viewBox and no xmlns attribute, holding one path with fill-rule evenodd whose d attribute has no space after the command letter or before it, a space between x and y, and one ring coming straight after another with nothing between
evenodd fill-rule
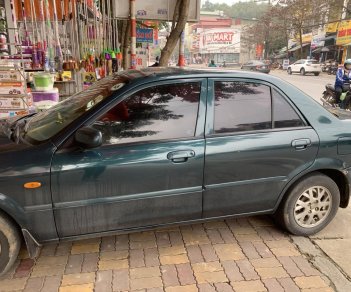
<instances>
[{"instance_id":1,"label":"leaning brown tree trunk rising behind the green sedan's roof","mask_svg":"<svg viewBox=\"0 0 351 292\"><path fill-rule=\"evenodd\" d=\"M179 5L176 5L176 7L179 7L179 11L174 11L175 17L173 18L173 22L177 21L177 25L175 25L174 29L171 31L167 43L161 51L160 66L168 65L168 61L188 20L190 0L177 0L177 2L179 2ZM176 19L177 15L179 15L178 19Z\"/></svg>"}]
</instances>

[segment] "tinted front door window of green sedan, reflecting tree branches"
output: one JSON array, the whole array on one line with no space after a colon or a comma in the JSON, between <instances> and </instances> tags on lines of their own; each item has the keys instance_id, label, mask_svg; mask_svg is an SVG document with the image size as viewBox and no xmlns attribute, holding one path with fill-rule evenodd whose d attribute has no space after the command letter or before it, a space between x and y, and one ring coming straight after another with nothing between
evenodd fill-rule
<instances>
[{"instance_id":1,"label":"tinted front door window of green sedan, reflecting tree branches","mask_svg":"<svg viewBox=\"0 0 351 292\"><path fill-rule=\"evenodd\" d=\"M127 97L95 121L103 144L119 144L195 135L200 82L157 85Z\"/></svg>"}]
</instances>

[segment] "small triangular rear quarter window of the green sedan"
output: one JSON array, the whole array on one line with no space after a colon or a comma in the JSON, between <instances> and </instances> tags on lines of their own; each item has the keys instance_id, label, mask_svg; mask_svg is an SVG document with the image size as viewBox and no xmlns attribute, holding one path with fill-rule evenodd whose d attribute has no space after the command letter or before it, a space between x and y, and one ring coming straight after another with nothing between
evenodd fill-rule
<instances>
[{"instance_id":1,"label":"small triangular rear quarter window of the green sedan","mask_svg":"<svg viewBox=\"0 0 351 292\"><path fill-rule=\"evenodd\" d=\"M302 127L304 122L297 115L285 98L273 89L274 128Z\"/></svg>"}]
</instances>

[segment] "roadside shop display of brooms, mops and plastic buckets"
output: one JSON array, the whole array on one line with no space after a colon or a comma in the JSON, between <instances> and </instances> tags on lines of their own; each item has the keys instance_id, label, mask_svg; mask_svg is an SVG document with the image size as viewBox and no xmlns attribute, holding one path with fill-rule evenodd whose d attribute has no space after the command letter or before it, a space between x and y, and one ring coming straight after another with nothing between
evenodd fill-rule
<instances>
[{"instance_id":1,"label":"roadside shop display of brooms, mops and plastic buckets","mask_svg":"<svg viewBox=\"0 0 351 292\"><path fill-rule=\"evenodd\" d=\"M118 71L113 5L0 0L0 117L48 108Z\"/></svg>"}]
</instances>

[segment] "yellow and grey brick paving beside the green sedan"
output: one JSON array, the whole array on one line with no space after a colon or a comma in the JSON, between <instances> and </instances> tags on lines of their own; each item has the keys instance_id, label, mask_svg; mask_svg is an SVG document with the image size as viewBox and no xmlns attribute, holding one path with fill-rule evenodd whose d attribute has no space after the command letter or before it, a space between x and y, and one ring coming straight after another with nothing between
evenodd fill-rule
<instances>
[{"instance_id":1,"label":"yellow and grey brick paving beside the green sedan","mask_svg":"<svg viewBox=\"0 0 351 292\"><path fill-rule=\"evenodd\" d=\"M45 245L0 291L334 291L268 217Z\"/></svg>"}]
</instances>

